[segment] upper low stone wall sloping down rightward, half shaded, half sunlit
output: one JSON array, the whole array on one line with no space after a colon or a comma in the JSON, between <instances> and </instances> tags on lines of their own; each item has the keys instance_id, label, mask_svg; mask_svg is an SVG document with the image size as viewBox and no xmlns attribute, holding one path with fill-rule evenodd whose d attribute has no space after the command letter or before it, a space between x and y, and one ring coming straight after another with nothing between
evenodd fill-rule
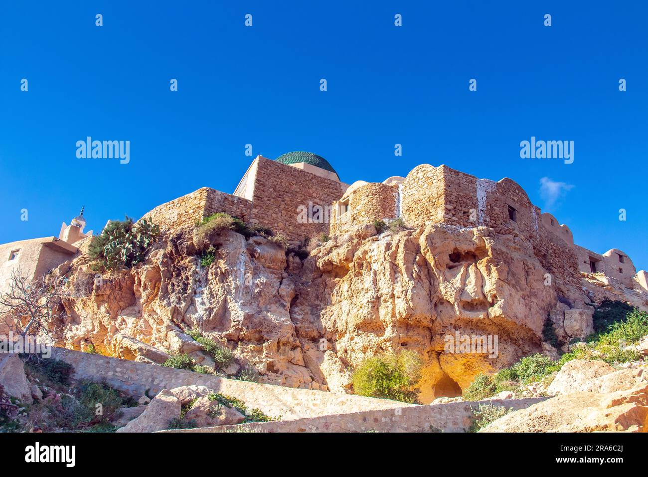
<instances>
[{"instance_id":1,"label":"upper low stone wall sloping down rightward, half shaded, half sunlit","mask_svg":"<svg viewBox=\"0 0 648 477\"><path fill-rule=\"evenodd\" d=\"M236 397L250 408L257 408L273 417L282 416L283 419L411 406L388 399L217 378L211 374L193 373L62 348L56 348L53 356L73 365L76 378L104 380L115 389L134 395L143 395L148 389L149 395L152 396L161 389L196 384L207 386L217 393Z\"/></svg>"}]
</instances>

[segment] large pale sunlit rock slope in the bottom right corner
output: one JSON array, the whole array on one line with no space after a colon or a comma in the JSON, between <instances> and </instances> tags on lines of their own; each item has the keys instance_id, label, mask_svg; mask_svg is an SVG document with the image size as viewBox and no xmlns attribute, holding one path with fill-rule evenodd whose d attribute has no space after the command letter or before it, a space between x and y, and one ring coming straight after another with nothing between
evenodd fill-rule
<instances>
[{"instance_id":1,"label":"large pale sunlit rock slope in the bottom right corner","mask_svg":"<svg viewBox=\"0 0 648 477\"><path fill-rule=\"evenodd\" d=\"M648 385L613 393L575 392L492 422L480 432L646 432Z\"/></svg>"}]
</instances>

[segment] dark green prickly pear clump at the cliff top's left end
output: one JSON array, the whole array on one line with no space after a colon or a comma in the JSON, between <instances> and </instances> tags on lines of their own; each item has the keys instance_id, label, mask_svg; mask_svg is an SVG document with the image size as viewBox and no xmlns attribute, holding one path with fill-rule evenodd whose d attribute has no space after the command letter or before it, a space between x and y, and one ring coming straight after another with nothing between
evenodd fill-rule
<instances>
[{"instance_id":1,"label":"dark green prickly pear clump at the cliff top's left end","mask_svg":"<svg viewBox=\"0 0 648 477\"><path fill-rule=\"evenodd\" d=\"M112 221L100 235L93 237L88 256L95 261L94 271L130 268L145 259L146 251L160 234L159 226L142 219Z\"/></svg>"}]
</instances>

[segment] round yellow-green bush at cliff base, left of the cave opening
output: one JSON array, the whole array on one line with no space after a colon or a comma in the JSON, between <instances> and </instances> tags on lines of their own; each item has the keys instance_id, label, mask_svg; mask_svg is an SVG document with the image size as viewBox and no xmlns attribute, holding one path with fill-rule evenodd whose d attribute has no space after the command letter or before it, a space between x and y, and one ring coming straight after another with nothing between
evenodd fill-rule
<instances>
[{"instance_id":1,"label":"round yellow-green bush at cliff base, left of the cave opening","mask_svg":"<svg viewBox=\"0 0 648 477\"><path fill-rule=\"evenodd\" d=\"M353 389L361 396L415 403L421 365L421 358L411 351L374 356L354 371Z\"/></svg>"}]
</instances>

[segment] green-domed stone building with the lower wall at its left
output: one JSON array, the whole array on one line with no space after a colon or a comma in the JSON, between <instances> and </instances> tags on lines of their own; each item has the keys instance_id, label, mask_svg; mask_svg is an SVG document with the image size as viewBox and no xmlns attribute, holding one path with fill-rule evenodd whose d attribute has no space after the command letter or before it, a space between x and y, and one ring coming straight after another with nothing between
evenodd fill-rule
<instances>
[{"instance_id":1,"label":"green-domed stone building with the lower wall at its left","mask_svg":"<svg viewBox=\"0 0 648 477\"><path fill-rule=\"evenodd\" d=\"M226 212L299 241L329 232L332 203L347 188L329 162L316 154L297 151L276 160L257 156L233 194L202 188L157 206L144 217L164 230Z\"/></svg>"}]
</instances>

